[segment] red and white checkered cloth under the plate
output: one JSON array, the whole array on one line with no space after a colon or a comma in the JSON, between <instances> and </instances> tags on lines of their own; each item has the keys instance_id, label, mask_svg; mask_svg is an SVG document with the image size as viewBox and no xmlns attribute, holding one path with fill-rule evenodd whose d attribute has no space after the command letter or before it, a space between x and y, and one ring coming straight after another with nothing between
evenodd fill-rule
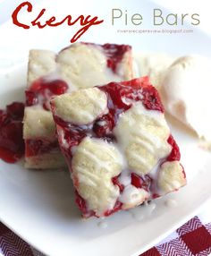
<instances>
[{"instance_id":1,"label":"red and white checkered cloth under the plate","mask_svg":"<svg viewBox=\"0 0 211 256\"><path fill-rule=\"evenodd\" d=\"M191 218L172 235L140 256L207 256L211 254L211 223ZM0 256L44 256L0 223Z\"/></svg>"}]
</instances>

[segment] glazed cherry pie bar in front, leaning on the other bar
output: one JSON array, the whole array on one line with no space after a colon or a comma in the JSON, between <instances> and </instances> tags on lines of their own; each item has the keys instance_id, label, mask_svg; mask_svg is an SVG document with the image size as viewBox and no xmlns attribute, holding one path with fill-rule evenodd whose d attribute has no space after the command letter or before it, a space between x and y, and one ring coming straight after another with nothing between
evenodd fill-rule
<instances>
[{"instance_id":1,"label":"glazed cherry pie bar in front, leaning on the other bar","mask_svg":"<svg viewBox=\"0 0 211 256\"><path fill-rule=\"evenodd\" d=\"M109 216L186 184L156 89L143 77L51 100L82 216Z\"/></svg>"}]
</instances>

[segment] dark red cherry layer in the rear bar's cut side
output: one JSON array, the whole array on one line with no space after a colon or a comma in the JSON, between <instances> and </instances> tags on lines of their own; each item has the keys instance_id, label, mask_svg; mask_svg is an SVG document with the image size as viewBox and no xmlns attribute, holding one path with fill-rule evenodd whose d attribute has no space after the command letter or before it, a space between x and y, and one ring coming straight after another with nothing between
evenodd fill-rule
<instances>
[{"instance_id":1,"label":"dark red cherry layer in the rear bar's cut side","mask_svg":"<svg viewBox=\"0 0 211 256\"><path fill-rule=\"evenodd\" d=\"M58 150L58 141L46 141L46 140L26 140L26 157L34 157L52 150Z\"/></svg>"}]
</instances>

